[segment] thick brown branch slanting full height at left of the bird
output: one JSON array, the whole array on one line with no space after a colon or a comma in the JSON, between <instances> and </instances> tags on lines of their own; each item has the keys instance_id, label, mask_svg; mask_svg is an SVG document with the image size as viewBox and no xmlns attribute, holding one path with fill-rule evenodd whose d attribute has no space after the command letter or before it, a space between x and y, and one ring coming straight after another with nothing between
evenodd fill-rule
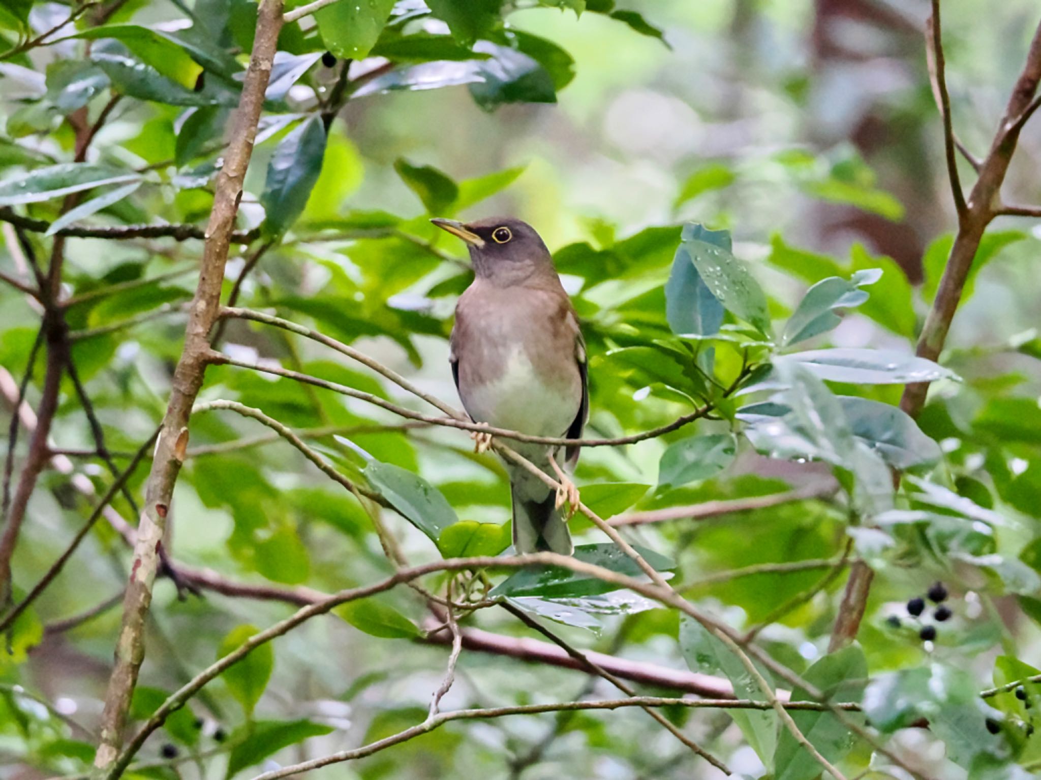
<instances>
[{"instance_id":1,"label":"thick brown branch slanting full height at left of the bird","mask_svg":"<svg viewBox=\"0 0 1041 780\"><path fill-rule=\"evenodd\" d=\"M229 134L231 142L217 177L199 284L185 328L184 347L174 370L170 401L146 484L145 510L142 513L133 566L124 599L123 625L116 646L116 664L105 695L101 743L95 756L95 766L101 773L107 773L119 755L130 699L144 660L145 617L152 601L152 584L159 569L159 544L166 529L174 485L187 450L188 418L202 386L209 349L209 331L220 310L224 266L233 237L243 180L253 152L253 139L263 108L264 90L271 77L281 27L282 1L264 0L257 15L253 52L243 83L238 110Z\"/></svg>"}]
</instances>

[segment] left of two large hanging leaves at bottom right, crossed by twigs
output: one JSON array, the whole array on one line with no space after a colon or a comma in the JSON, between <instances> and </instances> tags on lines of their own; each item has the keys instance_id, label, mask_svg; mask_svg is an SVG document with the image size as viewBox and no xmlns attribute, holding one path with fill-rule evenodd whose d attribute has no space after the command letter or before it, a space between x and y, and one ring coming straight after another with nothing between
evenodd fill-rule
<instances>
[{"instance_id":1,"label":"left of two large hanging leaves at bottom right, crossed by twigs","mask_svg":"<svg viewBox=\"0 0 1041 780\"><path fill-rule=\"evenodd\" d=\"M693 618L680 616L680 649L692 672L722 675L734 686L734 695L739 699L766 701L766 695L756 684L744 664L722 640L711 634ZM760 674L772 685L769 673L759 668ZM756 751L768 769L777 745L777 712L755 709L729 709L727 713L734 720L748 745Z\"/></svg>"}]
</instances>

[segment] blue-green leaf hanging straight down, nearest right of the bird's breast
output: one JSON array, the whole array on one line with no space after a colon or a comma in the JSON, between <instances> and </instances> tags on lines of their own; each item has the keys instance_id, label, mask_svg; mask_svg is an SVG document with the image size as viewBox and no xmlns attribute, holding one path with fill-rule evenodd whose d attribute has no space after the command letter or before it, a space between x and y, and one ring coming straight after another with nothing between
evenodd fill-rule
<instances>
[{"instance_id":1,"label":"blue-green leaf hanging straight down, nearest right of the bird's breast","mask_svg":"<svg viewBox=\"0 0 1041 780\"><path fill-rule=\"evenodd\" d=\"M701 241L730 252L729 231L706 230L700 225L693 230ZM687 228L684 231L686 235ZM681 242L665 283L665 318L669 330L677 335L711 336L719 331L723 314L723 305L705 284L689 248Z\"/></svg>"}]
</instances>

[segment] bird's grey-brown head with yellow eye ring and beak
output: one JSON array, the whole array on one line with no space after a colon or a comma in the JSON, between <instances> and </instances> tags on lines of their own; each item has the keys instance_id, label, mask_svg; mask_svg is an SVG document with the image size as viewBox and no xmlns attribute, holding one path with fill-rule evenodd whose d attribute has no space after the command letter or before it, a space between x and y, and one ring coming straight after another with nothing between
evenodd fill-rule
<instances>
[{"instance_id":1,"label":"bird's grey-brown head with yellow eye ring and beak","mask_svg":"<svg viewBox=\"0 0 1041 780\"><path fill-rule=\"evenodd\" d=\"M509 216L493 216L472 223L431 219L466 242L474 272L507 287L532 277L552 274L553 259L545 243L528 223Z\"/></svg>"}]
</instances>

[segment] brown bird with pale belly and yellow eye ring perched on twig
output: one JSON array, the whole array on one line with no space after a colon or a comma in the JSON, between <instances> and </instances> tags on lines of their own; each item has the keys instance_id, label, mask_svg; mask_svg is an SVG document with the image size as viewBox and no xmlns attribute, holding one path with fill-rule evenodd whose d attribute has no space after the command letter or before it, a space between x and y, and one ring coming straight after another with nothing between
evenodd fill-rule
<instances>
[{"instance_id":1,"label":"brown bird with pale belly and yellow eye ring perched on twig","mask_svg":"<svg viewBox=\"0 0 1041 780\"><path fill-rule=\"evenodd\" d=\"M456 304L449 361L459 399L478 423L530 436L581 439L589 415L586 348L578 316L541 237L527 223L498 216L461 223L434 218L466 242L474 281ZM490 436L475 432L478 451ZM578 462L580 447L511 441L535 466L557 475L554 491L505 460L518 553L574 553L566 503L578 489L558 461Z\"/></svg>"}]
</instances>

